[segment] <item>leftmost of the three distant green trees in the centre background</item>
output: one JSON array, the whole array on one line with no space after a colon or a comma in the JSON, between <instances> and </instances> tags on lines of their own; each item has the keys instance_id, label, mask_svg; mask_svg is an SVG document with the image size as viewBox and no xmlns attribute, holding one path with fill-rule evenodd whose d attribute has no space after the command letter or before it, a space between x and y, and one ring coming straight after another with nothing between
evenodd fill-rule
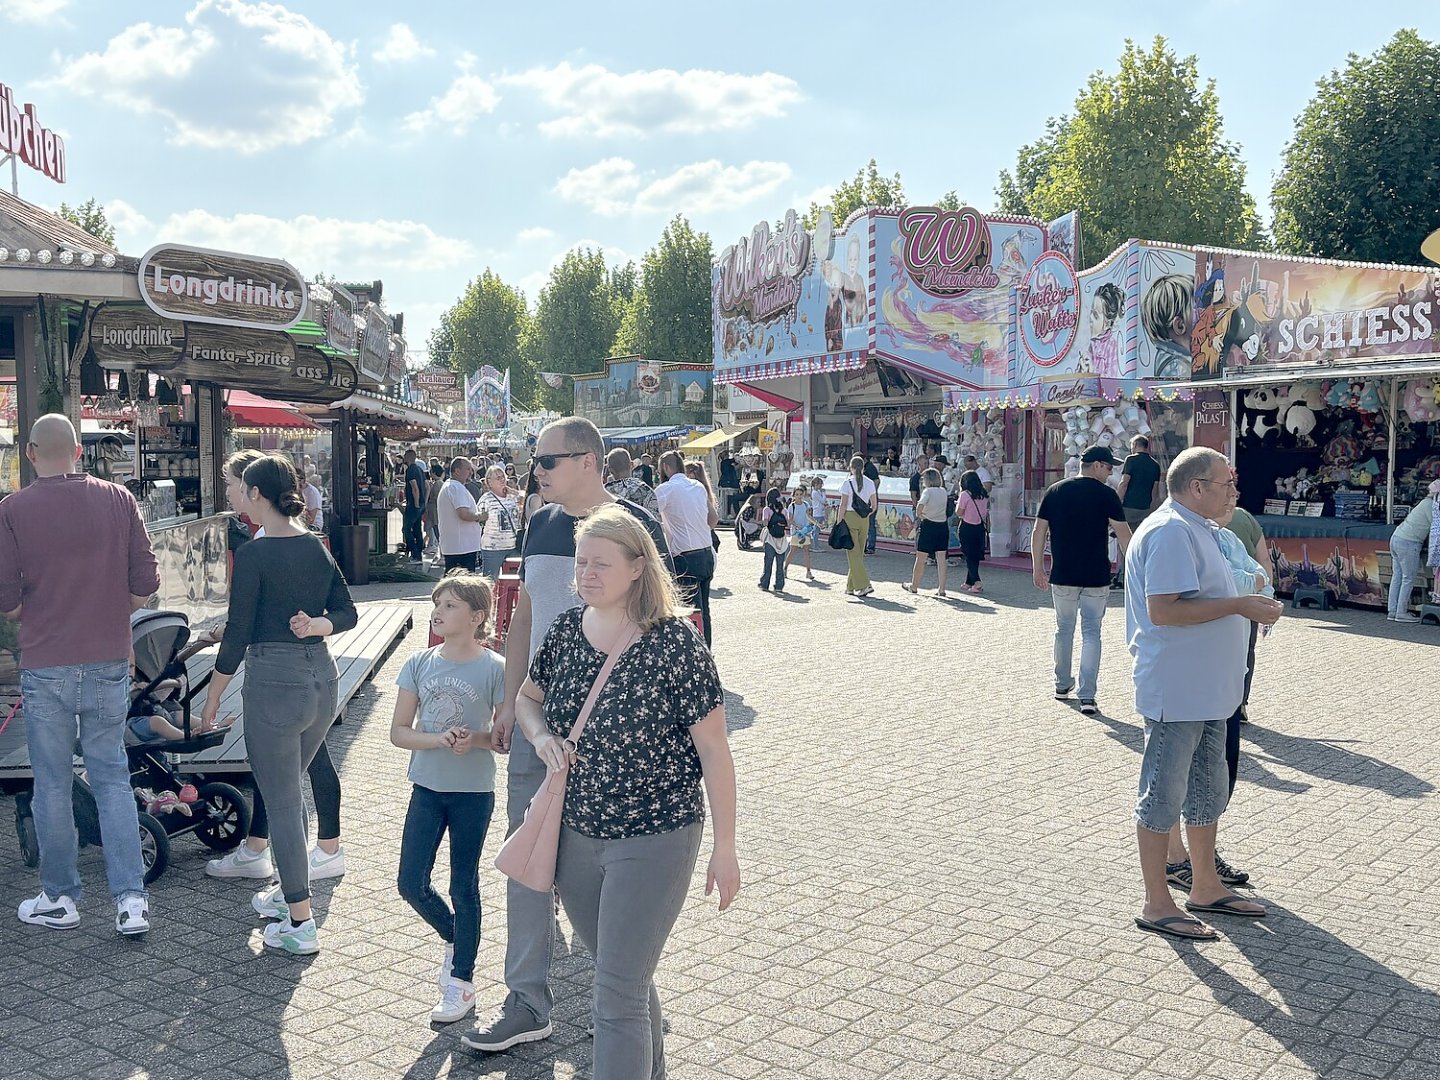
<instances>
[{"instance_id":1,"label":"leftmost of the three distant green trees in the centre background","mask_svg":"<svg viewBox=\"0 0 1440 1080\"><path fill-rule=\"evenodd\" d=\"M487 266L441 315L431 334L431 363L461 374L474 374L485 364L508 370L511 397L533 403L540 380L520 348L528 323L524 295Z\"/></svg>"}]
</instances>

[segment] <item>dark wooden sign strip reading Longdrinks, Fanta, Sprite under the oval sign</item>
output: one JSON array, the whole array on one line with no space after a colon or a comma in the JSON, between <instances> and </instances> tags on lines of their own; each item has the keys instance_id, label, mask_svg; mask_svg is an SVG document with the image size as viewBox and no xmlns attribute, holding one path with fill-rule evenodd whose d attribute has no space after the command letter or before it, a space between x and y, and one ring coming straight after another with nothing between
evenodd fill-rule
<instances>
[{"instance_id":1,"label":"dark wooden sign strip reading Longdrinks, Fanta, Sprite under the oval sign","mask_svg":"<svg viewBox=\"0 0 1440 1080\"><path fill-rule=\"evenodd\" d=\"M217 383L282 402L330 405L356 389L354 364L300 346L288 334L186 324L132 305L98 308L91 320L89 347L107 370L147 370L171 380Z\"/></svg>"}]
</instances>

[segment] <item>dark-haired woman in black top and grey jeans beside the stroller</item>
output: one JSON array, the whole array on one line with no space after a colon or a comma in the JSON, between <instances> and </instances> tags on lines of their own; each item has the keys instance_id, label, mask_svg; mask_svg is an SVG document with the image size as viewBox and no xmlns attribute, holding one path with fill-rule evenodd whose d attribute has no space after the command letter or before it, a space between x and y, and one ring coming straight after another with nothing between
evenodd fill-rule
<instances>
[{"instance_id":1,"label":"dark-haired woman in black top and grey jeans beside the stroller","mask_svg":"<svg viewBox=\"0 0 1440 1080\"><path fill-rule=\"evenodd\" d=\"M252 907L279 919L265 945L294 953L320 949L310 910L305 804L300 778L336 719L338 671L325 638L356 625L350 589L336 560L297 516L305 508L300 477L268 454L242 478L248 513L265 528L235 553L230 612L215 661L203 717L215 721L220 696L245 664L245 746L271 818L279 886Z\"/></svg>"}]
</instances>

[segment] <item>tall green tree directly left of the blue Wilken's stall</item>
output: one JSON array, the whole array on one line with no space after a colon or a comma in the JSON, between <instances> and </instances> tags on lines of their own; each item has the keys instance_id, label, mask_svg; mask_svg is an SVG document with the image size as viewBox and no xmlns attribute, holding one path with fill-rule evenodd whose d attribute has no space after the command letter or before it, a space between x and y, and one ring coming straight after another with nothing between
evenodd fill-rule
<instances>
[{"instance_id":1,"label":"tall green tree directly left of the blue Wilken's stall","mask_svg":"<svg viewBox=\"0 0 1440 1080\"><path fill-rule=\"evenodd\" d=\"M621 317L616 354L639 353L652 360L708 364L710 235L675 216L645 252L641 285Z\"/></svg>"}]
</instances>

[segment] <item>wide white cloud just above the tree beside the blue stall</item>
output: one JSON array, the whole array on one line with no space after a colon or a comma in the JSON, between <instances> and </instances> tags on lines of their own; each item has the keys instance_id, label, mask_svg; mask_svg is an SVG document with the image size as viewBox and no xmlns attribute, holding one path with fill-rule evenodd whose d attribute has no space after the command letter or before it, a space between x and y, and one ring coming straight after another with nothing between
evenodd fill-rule
<instances>
[{"instance_id":1,"label":"wide white cloud just above the tree beside the blue stall","mask_svg":"<svg viewBox=\"0 0 1440 1080\"><path fill-rule=\"evenodd\" d=\"M556 183L556 193L609 217L624 213L710 213L744 206L768 196L791 179L783 161L746 161L726 166L696 161L667 176L642 177L634 161L608 157L586 168L572 168Z\"/></svg>"}]
</instances>

